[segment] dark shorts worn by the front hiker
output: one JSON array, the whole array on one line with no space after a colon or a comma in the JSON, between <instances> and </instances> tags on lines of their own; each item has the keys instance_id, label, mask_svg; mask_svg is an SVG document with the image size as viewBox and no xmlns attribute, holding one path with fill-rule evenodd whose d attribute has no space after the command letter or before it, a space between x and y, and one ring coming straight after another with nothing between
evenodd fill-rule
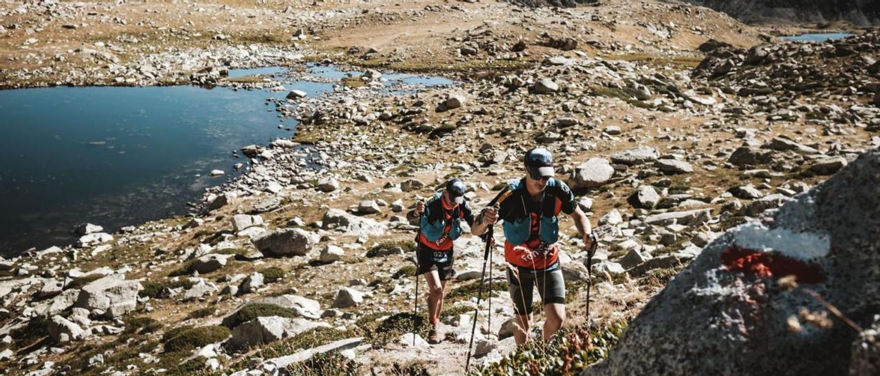
<instances>
[{"instance_id":1,"label":"dark shorts worn by the front hiker","mask_svg":"<svg viewBox=\"0 0 880 376\"><path fill-rule=\"evenodd\" d=\"M532 293L538 286L538 293L544 305L565 304L565 280L562 278L562 268L556 264L553 271L532 271L531 269L517 267L518 278L510 269L507 270L507 281L510 284L510 300L513 300L513 310L517 315L532 314Z\"/></svg>"}]
</instances>

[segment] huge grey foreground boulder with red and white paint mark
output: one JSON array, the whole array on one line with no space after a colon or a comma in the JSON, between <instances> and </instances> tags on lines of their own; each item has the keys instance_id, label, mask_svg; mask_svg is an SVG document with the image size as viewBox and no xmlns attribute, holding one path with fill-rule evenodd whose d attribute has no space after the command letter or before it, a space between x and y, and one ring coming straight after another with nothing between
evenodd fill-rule
<instances>
[{"instance_id":1,"label":"huge grey foreground boulder with red and white paint mark","mask_svg":"<svg viewBox=\"0 0 880 376\"><path fill-rule=\"evenodd\" d=\"M876 350L854 351L866 333L825 301L862 328L875 324L877 239L873 149L788 201L773 221L745 223L710 243L584 374L875 374L866 365Z\"/></svg>"}]
</instances>

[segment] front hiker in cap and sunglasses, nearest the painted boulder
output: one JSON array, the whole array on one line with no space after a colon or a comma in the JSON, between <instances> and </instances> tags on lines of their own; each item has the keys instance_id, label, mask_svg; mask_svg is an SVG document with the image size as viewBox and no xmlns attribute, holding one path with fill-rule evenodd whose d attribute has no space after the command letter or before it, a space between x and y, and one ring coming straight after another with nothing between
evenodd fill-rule
<instances>
[{"instance_id":1,"label":"front hiker in cap and sunglasses, nearest the painted boulder","mask_svg":"<svg viewBox=\"0 0 880 376\"><path fill-rule=\"evenodd\" d=\"M544 340L549 341L565 321L565 281L556 245L559 214L567 213L575 221L584 249L589 251L593 244L590 220L577 207L568 185L553 177L553 155L546 148L532 148L525 154L524 172L525 177L504 188L473 225L473 235L482 235L498 219L504 221L504 258L517 344L528 340L535 286L546 313Z\"/></svg>"}]
</instances>

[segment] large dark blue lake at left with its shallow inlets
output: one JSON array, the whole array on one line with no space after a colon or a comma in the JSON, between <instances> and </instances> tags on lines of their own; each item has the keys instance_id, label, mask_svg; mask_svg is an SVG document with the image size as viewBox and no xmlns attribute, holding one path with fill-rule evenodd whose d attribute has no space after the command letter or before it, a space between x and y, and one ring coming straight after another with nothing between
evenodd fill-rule
<instances>
[{"instance_id":1,"label":"large dark blue lake at left with its shallow inlets","mask_svg":"<svg viewBox=\"0 0 880 376\"><path fill-rule=\"evenodd\" d=\"M360 74L317 66L308 71ZM231 69L230 76L284 72ZM310 97L334 85L276 79ZM82 222L112 232L187 213L187 202L199 199L204 188L237 174L234 163L247 165L232 150L293 135L277 126L295 129L296 121L279 117L267 100L287 92L193 86L0 90L0 254L70 243L72 229ZM215 169L226 175L209 177Z\"/></svg>"}]
</instances>

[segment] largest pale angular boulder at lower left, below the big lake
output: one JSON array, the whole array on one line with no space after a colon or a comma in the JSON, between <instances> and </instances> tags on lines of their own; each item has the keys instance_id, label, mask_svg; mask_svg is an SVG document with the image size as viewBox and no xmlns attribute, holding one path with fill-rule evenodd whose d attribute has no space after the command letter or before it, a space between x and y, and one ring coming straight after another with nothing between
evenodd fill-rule
<instances>
[{"instance_id":1,"label":"largest pale angular boulder at lower left, below the big lake","mask_svg":"<svg viewBox=\"0 0 880 376\"><path fill-rule=\"evenodd\" d=\"M108 317L119 317L135 310L141 290L140 282L125 280L120 274L110 275L83 286L74 307L99 309Z\"/></svg>"}]
</instances>

